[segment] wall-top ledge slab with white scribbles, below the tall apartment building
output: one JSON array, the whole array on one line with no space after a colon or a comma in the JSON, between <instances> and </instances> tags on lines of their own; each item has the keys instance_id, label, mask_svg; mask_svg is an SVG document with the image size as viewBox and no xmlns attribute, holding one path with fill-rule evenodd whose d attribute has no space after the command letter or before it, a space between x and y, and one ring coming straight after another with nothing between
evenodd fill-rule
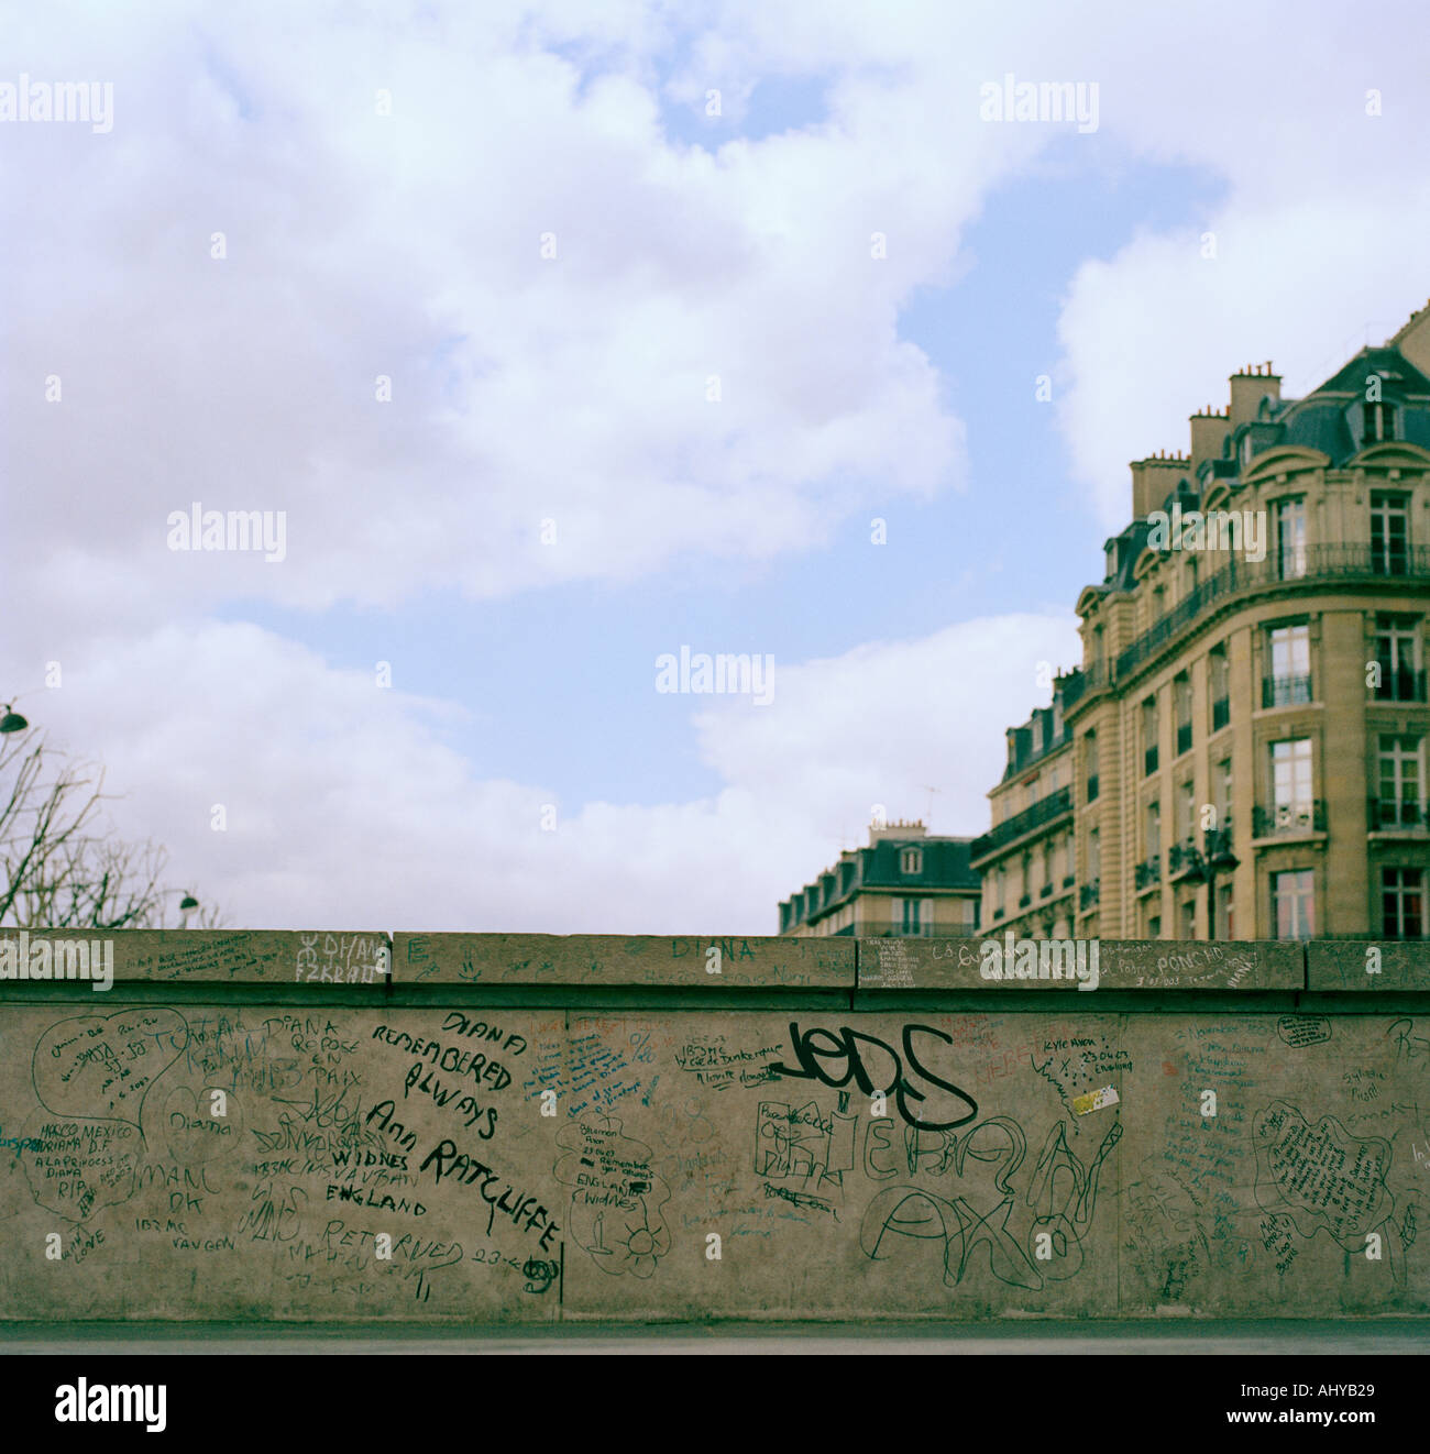
<instances>
[{"instance_id":1,"label":"wall-top ledge slab with white scribbles, below the tall apartment building","mask_svg":"<svg viewBox=\"0 0 1430 1454\"><path fill-rule=\"evenodd\" d=\"M1055 942L1074 944L1071 974ZM988 947L994 947L994 954ZM1043 974L1043 961L1047 974ZM998 970L998 977L991 971ZM985 970L989 973L985 974ZM1055 976L1055 970L1060 970ZM1030 973L1031 971L1031 973ZM1302 947L1289 941L861 939L861 990L999 989L1302 990Z\"/></svg>"}]
</instances>

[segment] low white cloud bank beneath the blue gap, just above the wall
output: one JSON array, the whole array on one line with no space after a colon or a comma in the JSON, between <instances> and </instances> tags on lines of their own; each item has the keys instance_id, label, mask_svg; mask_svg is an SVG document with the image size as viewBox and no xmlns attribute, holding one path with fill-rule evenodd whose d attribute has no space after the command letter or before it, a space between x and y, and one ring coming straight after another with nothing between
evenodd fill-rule
<instances>
[{"instance_id":1,"label":"low white cloud bank beneath the blue gap, just above the wall","mask_svg":"<svg viewBox=\"0 0 1430 1454\"><path fill-rule=\"evenodd\" d=\"M713 798L562 807L554 832L548 787L482 781L444 744L452 708L255 627L106 643L23 705L81 755L105 724L121 832L239 925L767 933L876 803L916 816L937 784L935 830L980 830L1004 726L1046 696L1039 663L1075 654L1071 615L1027 615L778 667L770 707L690 699Z\"/></svg>"}]
</instances>

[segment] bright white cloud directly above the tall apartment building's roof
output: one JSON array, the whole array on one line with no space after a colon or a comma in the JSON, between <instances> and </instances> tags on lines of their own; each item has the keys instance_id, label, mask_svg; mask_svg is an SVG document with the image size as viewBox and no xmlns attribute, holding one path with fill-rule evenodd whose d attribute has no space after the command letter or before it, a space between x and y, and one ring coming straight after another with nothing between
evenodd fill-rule
<instances>
[{"instance_id":1,"label":"bright white cloud directly above the tall apartment building's roof","mask_svg":"<svg viewBox=\"0 0 1430 1454\"><path fill-rule=\"evenodd\" d=\"M1127 461L1186 451L1187 416L1221 409L1229 374L1271 358L1283 397L1299 397L1385 342L1430 292L1415 240L1430 228L1430 198L1223 217L1212 224L1216 260L1200 257L1196 237L1148 237L1085 265L1071 289L1059 333L1075 382L1062 419L1109 529L1132 513Z\"/></svg>"}]
</instances>

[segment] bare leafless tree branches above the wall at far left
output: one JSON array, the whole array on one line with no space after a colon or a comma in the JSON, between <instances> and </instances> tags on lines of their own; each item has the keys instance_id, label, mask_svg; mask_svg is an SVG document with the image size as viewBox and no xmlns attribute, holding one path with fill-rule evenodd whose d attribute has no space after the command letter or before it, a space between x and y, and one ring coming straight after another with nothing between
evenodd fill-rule
<instances>
[{"instance_id":1,"label":"bare leafless tree branches above the wall at far left","mask_svg":"<svg viewBox=\"0 0 1430 1454\"><path fill-rule=\"evenodd\" d=\"M166 849L118 838L103 785L32 727L0 736L0 928L217 928L218 910L164 887Z\"/></svg>"}]
</instances>

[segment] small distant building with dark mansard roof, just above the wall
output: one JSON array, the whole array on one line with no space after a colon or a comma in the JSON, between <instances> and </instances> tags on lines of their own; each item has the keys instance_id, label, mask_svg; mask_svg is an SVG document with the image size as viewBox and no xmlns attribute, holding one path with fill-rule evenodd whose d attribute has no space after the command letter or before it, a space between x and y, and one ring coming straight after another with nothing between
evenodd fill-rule
<instances>
[{"instance_id":1,"label":"small distant building with dark mansard roof, just above the wall","mask_svg":"<svg viewBox=\"0 0 1430 1454\"><path fill-rule=\"evenodd\" d=\"M921 822L874 824L866 848L780 904L780 933L860 938L978 933L980 883L966 838L931 836Z\"/></svg>"}]
</instances>

